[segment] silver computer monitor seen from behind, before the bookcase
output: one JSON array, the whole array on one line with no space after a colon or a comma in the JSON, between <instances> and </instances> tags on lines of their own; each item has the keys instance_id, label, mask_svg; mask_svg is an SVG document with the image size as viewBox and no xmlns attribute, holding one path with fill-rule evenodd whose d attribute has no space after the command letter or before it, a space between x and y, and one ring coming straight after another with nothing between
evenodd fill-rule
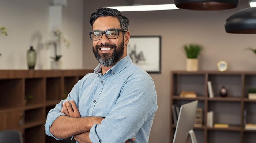
<instances>
[{"instance_id":1,"label":"silver computer monitor seen from behind, before the bookcase","mask_svg":"<svg viewBox=\"0 0 256 143\"><path fill-rule=\"evenodd\" d=\"M187 143L190 139L192 143L197 143L193 132L197 104L198 100L181 105L173 143Z\"/></svg>"}]
</instances>

